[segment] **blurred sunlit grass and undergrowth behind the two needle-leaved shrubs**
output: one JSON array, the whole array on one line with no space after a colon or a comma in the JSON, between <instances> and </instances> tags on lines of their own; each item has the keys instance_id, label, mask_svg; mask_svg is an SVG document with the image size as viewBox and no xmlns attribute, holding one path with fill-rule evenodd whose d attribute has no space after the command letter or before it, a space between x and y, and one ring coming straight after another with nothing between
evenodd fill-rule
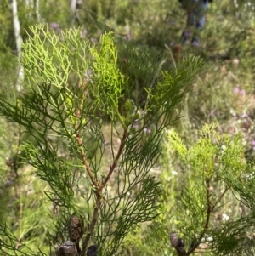
<instances>
[{"instance_id":1,"label":"blurred sunlit grass and undergrowth behind the two needle-leaved shrubs","mask_svg":"<svg viewBox=\"0 0 255 256\"><path fill-rule=\"evenodd\" d=\"M252 162L255 150L253 0L214 0L209 4L207 24L201 31L201 47L187 45L181 50L176 45L184 30L185 13L177 0L84 0L77 6L75 18L67 1L59 1L58 4L51 0L38 2L39 16L33 5L21 0L17 3L24 42L29 35L32 36L29 27L37 23L48 24L48 30L56 34L61 30L81 26L82 37L95 44L99 43L102 33L114 31L119 69L130 77L128 84L133 88L133 100L141 107L145 97L143 88L153 85L150 82L156 79L154 75L158 66L174 71L176 62L188 54L201 56L203 68L196 75L190 92L185 94L184 101L178 105L176 111L182 118L175 125L175 130L189 148L201 138L198 131L205 123L217 122L220 134L228 134L230 137L238 132L242 134L239 147L243 147L241 151L244 152L246 162ZM8 0L0 3L0 24L0 88L2 94L13 94L19 64ZM128 46L131 45L137 46L135 53L129 50ZM135 68L127 65L129 59L135 58L144 63L144 73L135 73ZM150 72L147 70L148 65L151 65ZM61 242L61 237L54 233L54 223L49 221L48 214L49 210L53 215L59 214L59 209L49 203L43 193L47 184L37 179L34 168L20 163L18 156L21 142L32 141L31 134L22 134L19 125L7 122L3 117L0 129L0 217L7 224L4 231L9 231L10 236L11 231L14 232L17 248L21 242L26 242L31 250L37 251L39 247L48 254L52 251L54 255L54 246ZM111 133L107 125L102 129L106 136ZM166 138L162 140L162 154L150 170L161 181L163 193L158 199L161 214L154 222L141 225L129 233L117 252L120 255L174 255L176 252L169 242L169 232L177 231L179 236L186 234L183 226L175 230L179 225L174 217L178 213L176 206L181 201L184 188L197 184L201 178L194 174L194 168L184 167L167 136L166 133ZM224 179L224 182L228 185L228 180ZM220 195L225 187L223 183L218 183L213 184L211 189ZM245 196L245 191L238 193ZM189 201L189 198L185 200ZM222 207L212 213L211 225L228 224L230 220L235 222L240 216L250 218L253 207L250 199L247 202L243 203L233 191L226 192ZM236 227L239 238L243 237L241 230L247 230L251 222L245 219L241 223L242 227ZM227 233L228 225L224 225L224 229ZM1 232L3 230L0 230L0 242ZM216 245L219 247L220 243L213 244L211 241L211 238L215 241L216 233L213 230L209 238L203 237L203 243L196 253L212 255L218 252ZM234 238L236 236L233 235ZM254 232L249 230L246 236L248 239L245 242L241 239L242 245L249 247L246 255L254 255ZM54 243L49 242L49 237ZM192 243L191 236L186 239L185 242ZM235 244L233 240L222 241L222 247ZM209 245L212 245L210 249ZM240 251L234 249L232 254L224 249L222 252L222 255L241 255ZM241 252L244 254L245 249L242 248Z\"/></svg>"}]
</instances>

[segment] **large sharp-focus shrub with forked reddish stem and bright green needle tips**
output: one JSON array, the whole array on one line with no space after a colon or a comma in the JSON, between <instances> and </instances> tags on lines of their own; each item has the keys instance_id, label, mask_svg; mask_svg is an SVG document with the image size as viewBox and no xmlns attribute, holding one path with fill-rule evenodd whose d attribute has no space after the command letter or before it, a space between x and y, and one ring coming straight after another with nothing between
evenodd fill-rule
<instances>
[{"instance_id":1,"label":"large sharp-focus shrub with forked reddish stem and bright green needle tips","mask_svg":"<svg viewBox=\"0 0 255 256\"><path fill-rule=\"evenodd\" d=\"M99 45L82 39L81 29L56 35L34 26L31 35L20 60L28 89L13 101L0 95L0 114L34 138L19 155L48 184L44 192L59 209L49 221L60 238L48 242L57 255L114 255L130 230L158 214L161 189L150 169L201 60L190 56L173 73L157 71L141 110L127 98L111 32ZM10 242L0 250L25 254L4 230Z\"/></svg>"}]
</instances>

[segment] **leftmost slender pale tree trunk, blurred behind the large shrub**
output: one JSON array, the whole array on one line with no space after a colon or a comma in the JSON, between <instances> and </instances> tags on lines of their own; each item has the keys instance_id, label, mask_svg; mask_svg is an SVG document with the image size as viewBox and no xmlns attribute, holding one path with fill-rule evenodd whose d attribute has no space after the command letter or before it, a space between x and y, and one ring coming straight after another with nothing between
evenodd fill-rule
<instances>
[{"instance_id":1,"label":"leftmost slender pale tree trunk, blurred behind the large shrub","mask_svg":"<svg viewBox=\"0 0 255 256\"><path fill-rule=\"evenodd\" d=\"M11 8L13 12L13 23L14 23L14 36L16 41L17 54L20 60L22 37L20 35L20 20L18 17L18 6L17 0L12 0ZM24 81L24 68L22 65L18 67L18 79L16 82L16 88L20 92L23 88L22 82Z\"/></svg>"}]
</instances>

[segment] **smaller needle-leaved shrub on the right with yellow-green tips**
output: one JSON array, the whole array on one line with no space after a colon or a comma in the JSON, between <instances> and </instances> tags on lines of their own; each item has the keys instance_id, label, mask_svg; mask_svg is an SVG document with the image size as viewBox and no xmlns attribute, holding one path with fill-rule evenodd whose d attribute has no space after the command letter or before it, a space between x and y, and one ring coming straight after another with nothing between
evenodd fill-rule
<instances>
[{"instance_id":1,"label":"smaller needle-leaved shrub on the right with yellow-green tips","mask_svg":"<svg viewBox=\"0 0 255 256\"><path fill-rule=\"evenodd\" d=\"M215 123L201 129L200 139L188 148L173 130L168 134L178 151L185 188L173 207L170 242L178 255L251 255L254 232L253 169L246 162L241 134L219 134ZM194 181L195 180L195 181ZM243 213L224 211L224 198L240 201ZM182 240L183 242L180 242Z\"/></svg>"}]
</instances>

